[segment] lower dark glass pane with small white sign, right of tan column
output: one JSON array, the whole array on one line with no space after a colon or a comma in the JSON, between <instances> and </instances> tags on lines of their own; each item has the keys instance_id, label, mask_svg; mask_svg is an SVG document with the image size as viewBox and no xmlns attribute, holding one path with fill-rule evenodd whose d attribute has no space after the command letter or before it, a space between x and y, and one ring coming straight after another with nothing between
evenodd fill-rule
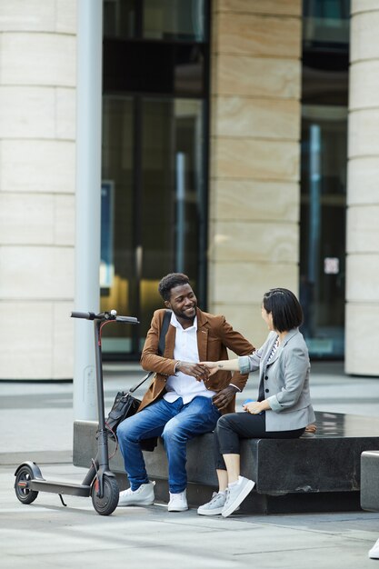
<instances>
[{"instance_id":1,"label":"lower dark glass pane with small white sign, right of tan column","mask_svg":"<svg viewBox=\"0 0 379 569\"><path fill-rule=\"evenodd\" d=\"M347 110L304 106L300 300L310 354L344 355Z\"/></svg>"}]
</instances>

